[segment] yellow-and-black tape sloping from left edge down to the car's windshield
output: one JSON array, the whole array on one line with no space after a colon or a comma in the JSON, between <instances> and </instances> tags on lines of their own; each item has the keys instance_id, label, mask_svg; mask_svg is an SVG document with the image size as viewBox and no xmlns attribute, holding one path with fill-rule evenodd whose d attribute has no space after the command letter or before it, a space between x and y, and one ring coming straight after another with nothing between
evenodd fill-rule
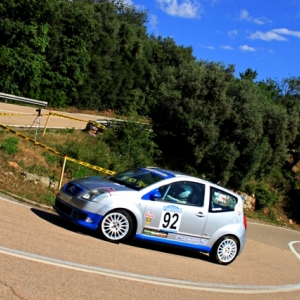
<instances>
[{"instance_id":1,"label":"yellow-and-black tape sloping from left edge down to the car's windshield","mask_svg":"<svg viewBox=\"0 0 300 300\"><path fill-rule=\"evenodd\" d=\"M6 131L13 132L13 133L16 134L17 136L23 138L23 139L26 140L26 141L29 141L29 142L33 143L34 145L36 145L36 146L38 146L38 147L41 147L41 148L43 148L43 149L45 149L45 150L47 150L47 151L50 151L50 152L52 152L52 153L54 153L54 154L56 154L56 155L58 155L58 156L65 157L67 160L72 161L72 162L74 162L74 163L77 163L77 164L79 164L79 165L85 166L85 167L90 168L90 169L93 169L93 170L100 171L100 172L105 173L105 174L113 175L113 174L116 173L116 172L114 172L114 171L107 170L107 169L104 169L104 168L101 168L101 167L98 167L98 166L94 166L94 165L91 165L91 164L89 164L89 163L86 163L86 162L83 162L83 161L80 161L80 160L77 160L77 159L68 157L68 156L66 156L66 155L65 155L65 156L64 156L64 155L61 155L58 151L56 151L56 150L54 150L54 149L52 149L52 148L50 148L50 147L48 147L48 146L46 146L46 145L43 145L43 144L41 144L41 143L39 143L39 142L36 142L36 141L34 141L33 139L29 138L28 136L26 136L26 135L24 135L24 134L22 134L22 133L20 133L20 132L18 132L18 131L15 131L15 130L11 129L10 127L5 126L5 125L3 125L3 124L0 124L0 127L4 128Z\"/></svg>"}]
</instances>

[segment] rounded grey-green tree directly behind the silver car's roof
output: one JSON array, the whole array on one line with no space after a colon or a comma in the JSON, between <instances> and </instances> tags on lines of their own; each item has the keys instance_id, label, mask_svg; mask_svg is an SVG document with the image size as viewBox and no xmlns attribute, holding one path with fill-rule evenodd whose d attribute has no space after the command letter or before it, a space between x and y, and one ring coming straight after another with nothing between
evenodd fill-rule
<instances>
[{"instance_id":1,"label":"rounded grey-green tree directly behind the silver car's roof","mask_svg":"<svg viewBox=\"0 0 300 300\"><path fill-rule=\"evenodd\" d=\"M226 90L233 72L232 66L205 61L163 70L160 101L151 116L171 168L205 173L201 166L220 138L220 124L231 112Z\"/></svg>"}]
</instances>

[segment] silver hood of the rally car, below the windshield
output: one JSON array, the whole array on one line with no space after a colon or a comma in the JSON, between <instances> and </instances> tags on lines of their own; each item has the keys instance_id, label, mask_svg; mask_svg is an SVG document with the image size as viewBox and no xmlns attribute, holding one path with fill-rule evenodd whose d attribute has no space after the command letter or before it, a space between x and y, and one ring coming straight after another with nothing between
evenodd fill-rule
<instances>
[{"instance_id":1,"label":"silver hood of the rally car, below the windshield","mask_svg":"<svg viewBox=\"0 0 300 300\"><path fill-rule=\"evenodd\" d=\"M103 177L86 177L73 180L73 182L80 184L81 186L85 187L89 190L99 189L99 188L108 188L114 191L134 191L124 185L120 185L118 183L109 181Z\"/></svg>"}]
</instances>

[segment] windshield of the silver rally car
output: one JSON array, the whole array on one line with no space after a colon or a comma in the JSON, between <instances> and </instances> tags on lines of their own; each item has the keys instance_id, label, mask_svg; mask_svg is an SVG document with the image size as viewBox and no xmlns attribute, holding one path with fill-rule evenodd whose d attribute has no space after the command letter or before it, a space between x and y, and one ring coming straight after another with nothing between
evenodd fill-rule
<instances>
[{"instance_id":1,"label":"windshield of the silver rally car","mask_svg":"<svg viewBox=\"0 0 300 300\"><path fill-rule=\"evenodd\" d=\"M120 172L107 179L139 191L155 182L165 179L167 176L153 169L141 168Z\"/></svg>"}]
</instances>

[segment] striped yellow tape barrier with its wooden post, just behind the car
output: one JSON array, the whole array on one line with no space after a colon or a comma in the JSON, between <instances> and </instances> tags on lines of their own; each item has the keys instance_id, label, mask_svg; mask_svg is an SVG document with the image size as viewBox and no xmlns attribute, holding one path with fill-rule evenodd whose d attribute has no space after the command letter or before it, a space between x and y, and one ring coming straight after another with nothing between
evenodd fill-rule
<instances>
[{"instance_id":1,"label":"striped yellow tape barrier with its wooden post, just behind the car","mask_svg":"<svg viewBox=\"0 0 300 300\"><path fill-rule=\"evenodd\" d=\"M74 163L77 163L79 165L82 165L82 166L85 166L87 168L90 168L90 169L93 169L93 170L96 170L96 171L99 171L101 173L104 173L104 174L109 174L109 175L113 175L115 174L116 172L114 171L111 171L111 170L107 170L107 169L104 169L104 168L101 168L101 167L98 167L98 166L95 166L95 165L92 165L92 164L89 164L87 162L83 162L83 161L80 161L80 160L77 160L77 159L74 159L74 158L71 158L71 157L68 157L67 155L62 155L61 153L59 153L58 151L46 146L46 145L43 145L31 138L29 138L28 136L16 131L16 130L13 130L11 129L10 127L8 126L5 126L3 124L0 123L0 127L5 129L6 131L9 131L9 132L12 132L14 133L15 135L17 135L18 137L21 137L23 138L25 141L28 141L32 144L34 144L35 146L38 146L46 151L49 151L57 156L60 156L60 157L63 157L64 158L64 163L63 163L63 167L62 167L62 172L61 172L61 177L60 177L60 181L59 181L59 187L58 189L61 188L61 185L62 185L62 180L63 180L63 174L64 174L64 169L65 169L65 164L66 164L66 161L69 160L71 162L74 162Z\"/></svg>"}]
</instances>

